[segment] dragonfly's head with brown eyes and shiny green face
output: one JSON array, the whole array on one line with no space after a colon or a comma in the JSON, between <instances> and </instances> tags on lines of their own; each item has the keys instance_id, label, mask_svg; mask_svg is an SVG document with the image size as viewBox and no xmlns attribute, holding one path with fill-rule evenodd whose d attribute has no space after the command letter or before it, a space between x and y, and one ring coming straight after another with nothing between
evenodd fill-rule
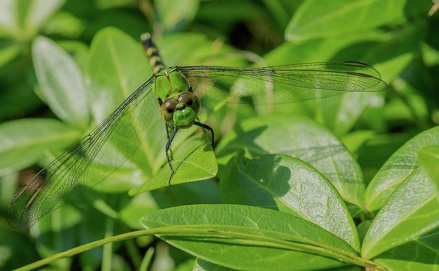
<instances>
[{"instance_id":1,"label":"dragonfly's head with brown eyes and shiny green face","mask_svg":"<svg viewBox=\"0 0 439 271\"><path fill-rule=\"evenodd\" d=\"M161 105L163 120L178 128L189 128L200 111L200 99L190 92L182 92L176 98L168 98Z\"/></svg>"}]
</instances>

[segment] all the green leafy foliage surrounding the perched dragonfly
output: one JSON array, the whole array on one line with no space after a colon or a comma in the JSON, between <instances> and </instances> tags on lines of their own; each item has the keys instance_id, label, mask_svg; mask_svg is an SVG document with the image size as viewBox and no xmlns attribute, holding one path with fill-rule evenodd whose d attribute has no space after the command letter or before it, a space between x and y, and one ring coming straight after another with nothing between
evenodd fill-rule
<instances>
[{"instance_id":1,"label":"all the green leafy foliage surrounding the perched dragonfly","mask_svg":"<svg viewBox=\"0 0 439 271\"><path fill-rule=\"evenodd\" d=\"M53 270L438 269L431 1L174 3L0 0L0 269L45 257ZM152 30L167 65L355 60L389 89L267 106L202 99L216 144L180 133L170 187L163 125L132 124L154 136L123 166L29 234L10 228L19 186L151 76L139 37ZM126 153L115 144L112 155Z\"/></svg>"}]
</instances>

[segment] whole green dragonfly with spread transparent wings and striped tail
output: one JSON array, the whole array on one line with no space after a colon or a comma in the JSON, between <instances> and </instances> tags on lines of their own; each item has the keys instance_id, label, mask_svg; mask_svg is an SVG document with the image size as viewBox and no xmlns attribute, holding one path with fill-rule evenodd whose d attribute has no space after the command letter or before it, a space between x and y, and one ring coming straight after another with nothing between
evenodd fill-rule
<instances>
[{"instance_id":1,"label":"whole green dragonfly with spread transparent wings and striped tail","mask_svg":"<svg viewBox=\"0 0 439 271\"><path fill-rule=\"evenodd\" d=\"M170 169L170 185L175 173L170 148L179 130L199 126L210 135L212 146L214 144L213 129L197 117L200 97L213 99L218 104L287 104L387 88L377 70L354 61L274 67L165 68L151 35L144 34L141 40L154 70L152 77L87 136L21 187L8 208L8 222L12 227L30 228L45 214L60 207L62 199L74 190L80 193L82 188L100 183L136 152L146 136L154 137L149 133L157 131L158 125L165 126L168 135L163 148ZM157 108L157 114L149 114L151 108Z\"/></svg>"}]
</instances>

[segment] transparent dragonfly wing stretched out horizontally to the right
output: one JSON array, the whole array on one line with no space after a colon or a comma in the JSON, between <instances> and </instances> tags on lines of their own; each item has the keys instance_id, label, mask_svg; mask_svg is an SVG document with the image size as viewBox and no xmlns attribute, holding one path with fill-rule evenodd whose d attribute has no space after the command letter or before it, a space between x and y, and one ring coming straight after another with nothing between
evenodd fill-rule
<instances>
[{"instance_id":1,"label":"transparent dragonfly wing stretched out horizontally to the right","mask_svg":"<svg viewBox=\"0 0 439 271\"><path fill-rule=\"evenodd\" d=\"M275 67L178 67L199 96L228 102L289 103L343 92L387 89L379 72L360 62L320 62ZM245 99L243 97L250 97Z\"/></svg>"}]
</instances>

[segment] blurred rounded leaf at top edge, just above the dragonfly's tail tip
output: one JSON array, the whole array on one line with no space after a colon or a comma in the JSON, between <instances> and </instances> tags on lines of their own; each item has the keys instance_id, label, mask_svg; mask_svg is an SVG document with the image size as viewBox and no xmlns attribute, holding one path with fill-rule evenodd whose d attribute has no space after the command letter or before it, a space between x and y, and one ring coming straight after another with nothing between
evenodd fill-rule
<instances>
[{"instance_id":1,"label":"blurred rounded leaf at top edge, just above the dragonfly's tail tip","mask_svg":"<svg viewBox=\"0 0 439 271\"><path fill-rule=\"evenodd\" d=\"M197 15L199 0L155 0L154 10L166 32L183 29Z\"/></svg>"}]
</instances>

